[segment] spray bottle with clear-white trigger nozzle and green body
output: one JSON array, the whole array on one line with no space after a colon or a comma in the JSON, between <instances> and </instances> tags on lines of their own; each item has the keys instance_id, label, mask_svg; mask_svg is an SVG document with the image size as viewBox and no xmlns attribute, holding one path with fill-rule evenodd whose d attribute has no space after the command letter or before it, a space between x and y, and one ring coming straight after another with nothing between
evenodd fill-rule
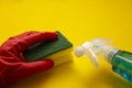
<instances>
[{"instance_id":1,"label":"spray bottle with clear-white trigger nozzle and green body","mask_svg":"<svg viewBox=\"0 0 132 88\"><path fill-rule=\"evenodd\" d=\"M77 57L88 56L91 63L98 67L98 55L112 65L112 70L122 76L124 79L132 82L132 53L116 48L110 44L109 40L95 38L89 42L85 42L77 48L75 48L75 55Z\"/></svg>"}]
</instances>

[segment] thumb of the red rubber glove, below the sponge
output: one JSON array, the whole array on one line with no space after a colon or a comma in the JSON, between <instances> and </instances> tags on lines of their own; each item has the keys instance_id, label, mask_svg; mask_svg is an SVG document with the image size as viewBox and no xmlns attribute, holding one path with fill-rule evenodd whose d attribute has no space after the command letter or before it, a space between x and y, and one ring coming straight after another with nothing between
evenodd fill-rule
<instances>
[{"instance_id":1,"label":"thumb of the red rubber glove, below the sponge","mask_svg":"<svg viewBox=\"0 0 132 88\"><path fill-rule=\"evenodd\" d=\"M54 66L54 62L52 59L32 62L32 63L23 63L15 70L13 69L7 76L7 82L9 85L14 84L23 78L33 76L35 74L45 72Z\"/></svg>"}]
</instances>

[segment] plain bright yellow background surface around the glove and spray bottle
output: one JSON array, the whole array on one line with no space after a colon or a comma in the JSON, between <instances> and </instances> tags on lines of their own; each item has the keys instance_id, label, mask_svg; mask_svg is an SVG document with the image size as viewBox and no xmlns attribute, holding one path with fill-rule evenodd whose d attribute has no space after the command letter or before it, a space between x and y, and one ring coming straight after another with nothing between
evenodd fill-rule
<instances>
[{"instance_id":1,"label":"plain bright yellow background surface around the glove and spray bottle","mask_svg":"<svg viewBox=\"0 0 132 88\"><path fill-rule=\"evenodd\" d=\"M25 31L61 31L74 47L95 37L132 52L131 0L0 0L0 44ZM11 88L130 88L100 58L95 68L88 58L76 58Z\"/></svg>"}]
</instances>

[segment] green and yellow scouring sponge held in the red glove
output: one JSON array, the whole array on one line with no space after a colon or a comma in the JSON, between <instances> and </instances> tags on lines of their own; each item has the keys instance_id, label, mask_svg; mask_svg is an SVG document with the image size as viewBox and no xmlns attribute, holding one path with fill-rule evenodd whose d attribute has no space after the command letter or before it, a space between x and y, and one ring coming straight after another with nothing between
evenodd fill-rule
<instances>
[{"instance_id":1,"label":"green and yellow scouring sponge held in the red glove","mask_svg":"<svg viewBox=\"0 0 132 88\"><path fill-rule=\"evenodd\" d=\"M43 58L56 58L55 61L57 61L59 56L70 53L73 44L61 32L56 31L56 33L58 34L58 40L37 43L24 51L24 61L34 62Z\"/></svg>"}]
</instances>

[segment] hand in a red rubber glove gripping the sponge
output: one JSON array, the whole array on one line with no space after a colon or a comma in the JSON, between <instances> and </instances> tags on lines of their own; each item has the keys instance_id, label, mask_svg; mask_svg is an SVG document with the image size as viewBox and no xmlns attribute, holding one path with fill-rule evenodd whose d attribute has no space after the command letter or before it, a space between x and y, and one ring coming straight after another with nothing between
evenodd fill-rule
<instances>
[{"instance_id":1,"label":"hand in a red rubber glove gripping the sponge","mask_svg":"<svg viewBox=\"0 0 132 88\"><path fill-rule=\"evenodd\" d=\"M57 40L56 33L31 31L4 42L0 47L0 88L7 88L23 78L52 68L53 61L25 63L22 61L21 53L35 43L54 40Z\"/></svg>"}]
</instances>

